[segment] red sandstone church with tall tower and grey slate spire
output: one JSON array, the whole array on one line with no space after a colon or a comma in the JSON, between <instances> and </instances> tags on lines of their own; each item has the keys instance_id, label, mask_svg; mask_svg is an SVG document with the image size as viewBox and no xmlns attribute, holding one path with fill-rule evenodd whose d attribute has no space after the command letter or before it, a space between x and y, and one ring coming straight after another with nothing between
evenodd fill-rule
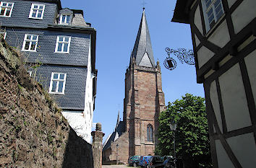
<instances>
[{"instance_id":1,"label":"red sandstone church with tall tower and grey slate spire","mask_svg":"<svg viewBox=\"0 0 256 168\"><path fill-rule=\"evenodd\" d=\"M158 143L158 116L166 109L161 67L155 64L143 8L135 46L125 74L123 120L103 143L103 164L127 163L130 156L154 155Z\"/></svg>"}]
</instances>

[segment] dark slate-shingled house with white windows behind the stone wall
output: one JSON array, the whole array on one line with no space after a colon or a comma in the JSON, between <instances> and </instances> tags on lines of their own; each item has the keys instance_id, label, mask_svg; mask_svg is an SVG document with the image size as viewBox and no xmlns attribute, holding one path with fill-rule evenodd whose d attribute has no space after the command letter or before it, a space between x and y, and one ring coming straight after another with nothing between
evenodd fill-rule
<instances>
[{"instance_id":1,"label":"dark slate-shingled house with white windows behind the stone wall","mask_svg":"<svg viewBox=\"0 0 256 168\"><path fill-rule=\"evenodd\" d=\"M90 143L95 104L96 32L82 10L59 0L7 0L0 4L1 29L24 53L28 72L55 97L78 136Z\"/></svg>"}]
</instances>

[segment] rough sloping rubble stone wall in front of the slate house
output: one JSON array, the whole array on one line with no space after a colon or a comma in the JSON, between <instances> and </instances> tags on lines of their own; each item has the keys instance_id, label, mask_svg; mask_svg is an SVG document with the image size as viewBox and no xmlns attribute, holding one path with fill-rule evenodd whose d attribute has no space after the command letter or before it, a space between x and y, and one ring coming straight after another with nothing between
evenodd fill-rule
<instances>
[{"instance_id":1,"label":"rough sloping rubble stone wall in front of the slate house","mask_svg":"<svg viewBox=\"0 0 256 168\"><path fill-rule=\"evenodd\" d=\"M30 79L22 54L0 43L0 167L93 167L91 145Z\"/></svg>"}]
</instances>

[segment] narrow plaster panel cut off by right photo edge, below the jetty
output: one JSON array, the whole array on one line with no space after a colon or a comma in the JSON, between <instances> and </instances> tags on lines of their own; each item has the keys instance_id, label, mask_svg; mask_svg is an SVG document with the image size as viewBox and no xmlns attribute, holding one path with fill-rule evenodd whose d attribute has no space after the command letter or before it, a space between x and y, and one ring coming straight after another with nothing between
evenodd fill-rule
<instances>
[{"instance_id":1,"label":"narrow plaster panel cut off by right photo edge, below the jetty","mask_svg":"<svg viewBox=\"0 0 256 168\"><path fill-rule=\"evenodd\" d=\"M252 94L254 99L256 100L256 50L254 50L247 57L245 57L244 61L247 66L249 81L252 87Z\"/></svg>"}]
</instances>

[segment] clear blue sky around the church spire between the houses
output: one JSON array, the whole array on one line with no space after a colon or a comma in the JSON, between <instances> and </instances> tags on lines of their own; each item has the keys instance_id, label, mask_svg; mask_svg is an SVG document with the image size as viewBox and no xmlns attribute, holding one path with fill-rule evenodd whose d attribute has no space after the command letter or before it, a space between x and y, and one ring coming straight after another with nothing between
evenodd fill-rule
<instances>
[{"instance_id":1,"label":"clear blue sky around the church spire between the houses","mask_svg":"<svg viewBox=\"0 0 256 168\"><path fill-rule=\"evenodd\" d=\"M62 8L82 9L85 22L97 31L97 93L93 123L101 123L103 141L114 131L117 115L124 111L124 75L135 45L142 17L142 0L61 0ZM195 66L177 62L170 71L163 66L165 48L192 49L189 25L171 22L176 0L145 0L145 14L150 31L155 61L160 62L166 105L186 93L205 97L202 84L197 84Z\"/></svg>"}]
</instances>

